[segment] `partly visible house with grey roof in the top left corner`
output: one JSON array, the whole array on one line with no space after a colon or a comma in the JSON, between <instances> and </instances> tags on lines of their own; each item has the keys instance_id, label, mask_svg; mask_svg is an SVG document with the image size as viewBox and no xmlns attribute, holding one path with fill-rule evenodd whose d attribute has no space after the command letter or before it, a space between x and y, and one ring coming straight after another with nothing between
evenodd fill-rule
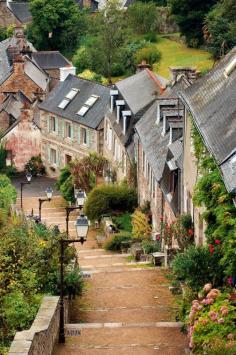
<instances>
[{"instance_id":1,"label":"partly visible house with grey roof in the top left corner","mask_svg":"<svg viewBox=\"0 0 236 355\"><path fill-rule=\"evenodd\" d=\"M24 25L31 22L29 2L0 0L0 26Z\"/></svg>"}]
</instances>

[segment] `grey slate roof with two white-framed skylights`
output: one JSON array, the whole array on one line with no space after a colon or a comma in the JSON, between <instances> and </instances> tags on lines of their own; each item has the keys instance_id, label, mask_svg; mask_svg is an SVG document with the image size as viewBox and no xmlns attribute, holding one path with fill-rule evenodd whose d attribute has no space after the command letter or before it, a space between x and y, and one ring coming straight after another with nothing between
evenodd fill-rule
<instances>
[{"instance_id":1,"label":"grey slate roof with two white-framed skylights","mask_svg":"<svg viewBox=\"0 0 236 355\"><path fill-rule=\"evenodd\" d=\"M64 110L58 108L60 102L72 88L77 88L80 91ZM91 95L98 95L99 99L83 117L77 115L76 113ZM46 100L39 105L39 108L96 129L108 110L109 101L110 89L108 87L70 74L65 81L60 82L50 92Z\"/></svg>"}]
</instances>

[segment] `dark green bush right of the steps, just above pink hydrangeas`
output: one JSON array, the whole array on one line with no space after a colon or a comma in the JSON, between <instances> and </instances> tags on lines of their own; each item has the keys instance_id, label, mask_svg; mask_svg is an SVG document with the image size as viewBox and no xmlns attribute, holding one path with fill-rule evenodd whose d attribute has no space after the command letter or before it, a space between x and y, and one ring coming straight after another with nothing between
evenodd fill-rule
<instances>
[{"instance_id":1,"label":"dark green bush right of the steps, just above pink hydrangeas","mask_svg":"<svg viewBox=\"0 0 236 355\"><path fill-rule=\"evenodd\" d=\"M178 280L186 282L195 291L208 282L220 286L224 277L223 268L219 265L220 258L219 246L215 246L214 254L208 246L190 246L175 256L173 272Z\"/></svg>"}]
</instances>

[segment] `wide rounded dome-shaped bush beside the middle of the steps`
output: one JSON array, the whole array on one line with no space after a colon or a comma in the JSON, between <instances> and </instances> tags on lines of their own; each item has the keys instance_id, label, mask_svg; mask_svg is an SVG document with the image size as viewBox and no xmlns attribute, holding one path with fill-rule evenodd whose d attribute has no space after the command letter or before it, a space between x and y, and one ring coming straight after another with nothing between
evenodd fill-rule
<instances>
[{"instance_id":1,"label":"wide rounded dome-shaped bush beside the middle of the steps","mask_svg":"<svg viewBox=\"0 0 236 355\"><path fill-rule=\"evenodd\" d=\"M132 212L137 206L137 194L127 186L100 185L88 195L85 213L91 221L100 220L114 211Z\"/></svg>"}]
</instances>

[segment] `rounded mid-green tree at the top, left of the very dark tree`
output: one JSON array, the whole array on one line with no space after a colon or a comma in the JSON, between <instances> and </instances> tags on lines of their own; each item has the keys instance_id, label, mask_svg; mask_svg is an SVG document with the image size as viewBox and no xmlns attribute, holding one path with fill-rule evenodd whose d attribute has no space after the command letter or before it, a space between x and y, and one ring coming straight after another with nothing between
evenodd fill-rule
<instances>
[{"instance_id":1,"label":"rounded mid-green tree at the top, left of the very dark tree","mask_svg":"<svg viewBox=\"0 0 236 355\"><path fill-rule=\"evenodd\" d=\"M154 2L135 2L128 7L127 17L129 26L135 33L146 34L158 30L160 20Z\"/></svg>"}]
</instances>

